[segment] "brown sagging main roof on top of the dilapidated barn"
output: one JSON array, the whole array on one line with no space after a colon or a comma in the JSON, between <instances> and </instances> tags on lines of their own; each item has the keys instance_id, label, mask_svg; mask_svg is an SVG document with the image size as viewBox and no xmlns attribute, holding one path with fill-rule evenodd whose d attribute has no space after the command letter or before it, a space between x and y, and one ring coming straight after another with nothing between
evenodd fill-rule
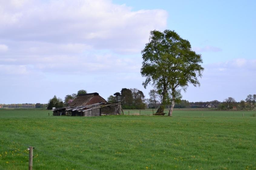
<instances>
[{"instance_id":1,"label":"brown sagging main roof on top of the dilapidated barn","mask_svg":"<svg viewBox=\"0 0 256 170\"><path fill-rule=\"evenodd\" d=\"M68 106L69 107L85 106L85 105L91 105L91 104L96 104L100 102L106 103L107 101L104 98L102 98L98 93L87 93L87 94L78 95L74 99L74 101L68 104Z\"/></svg>"}]
</instances>

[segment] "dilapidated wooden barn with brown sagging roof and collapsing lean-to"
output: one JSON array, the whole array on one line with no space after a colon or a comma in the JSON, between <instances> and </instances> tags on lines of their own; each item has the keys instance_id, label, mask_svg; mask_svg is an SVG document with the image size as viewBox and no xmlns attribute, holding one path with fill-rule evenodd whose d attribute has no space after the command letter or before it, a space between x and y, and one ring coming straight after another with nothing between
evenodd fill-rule
<instances>
[{"instance_id":1,"label":"dilapidated wooden barn with brown sagging roof and collapsing lean-to","mask_svg":"<svg viewBox=\"0 0 256 170\"><path fill-rule=\"evenodd\" d=\"M120 115L121 103L107 103L98 93L78 95L68 107L53 109L54 116Z\"/></svg>"}]
</instances>

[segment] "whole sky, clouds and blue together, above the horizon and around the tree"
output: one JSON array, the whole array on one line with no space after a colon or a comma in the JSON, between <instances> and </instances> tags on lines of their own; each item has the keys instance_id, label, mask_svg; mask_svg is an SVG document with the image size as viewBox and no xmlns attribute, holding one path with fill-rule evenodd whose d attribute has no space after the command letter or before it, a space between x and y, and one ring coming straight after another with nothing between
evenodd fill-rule
<instances>
[{"instance_id":1,"label":"whole sky, clouds and blue together, above the horizon and around the tree","mask_svg":"<svg viewBox=\"0 0 256 170\"><path fill-rule=\"evenodd\" d=\"M175 30L201 54L188 101L256 94L256 2L0 0L0 103L47 103L80 89L103 98L142 86L151 30Z\"/></svg>"}]
</instances>

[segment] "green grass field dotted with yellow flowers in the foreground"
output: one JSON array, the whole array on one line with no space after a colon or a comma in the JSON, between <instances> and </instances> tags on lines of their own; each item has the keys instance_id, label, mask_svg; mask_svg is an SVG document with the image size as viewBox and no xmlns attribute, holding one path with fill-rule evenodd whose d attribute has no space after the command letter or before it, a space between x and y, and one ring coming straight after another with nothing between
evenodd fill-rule
<instances>
[{"instance_id":1,"label":"green grass field dotted with yellow flowers in the foreground","mask_svg":"<svg viewBox=\"0 0 256 170\"><path fill-rule=\"evenodd\" d=\"M255 111L48 113L0 109L0 169L28 169L28 146L33 169L256 169Z\"/></svg>"}]
</instances>

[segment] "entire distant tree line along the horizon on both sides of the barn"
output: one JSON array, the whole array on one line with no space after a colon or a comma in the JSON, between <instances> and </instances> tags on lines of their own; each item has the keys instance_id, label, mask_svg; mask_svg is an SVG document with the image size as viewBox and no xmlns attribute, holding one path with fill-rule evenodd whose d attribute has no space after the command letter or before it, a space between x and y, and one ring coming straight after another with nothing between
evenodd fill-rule
<instances>
[{"instance_id":1,"label":"entire distant tree line along the horizon on both sides of the barn","mask_svg":"<svg viewBox=\"0 0 256 170\"><path fill-rule=\"evenodd\" d=\"M59 108L68 106L77 95L86 94L86 90L79 90L77 93L73 93L71 95L66 95L65 100L63 101L61 98L57 98L54 95L48 101L48 104L41 103L24 103L24 104L0 104L0 108L47 108L52 109L52 107ZM122 88L120 92L116 92L113 95L108 97L109 103L121 102L123 109L145 109L145 108L154 108L157 109L162 105L162 95L161 91L157 91L156 89L150 90L148 93L149 98L146 99L144 93L137 88ZM187 100L182 100L181 95L176 99L176 103L174 108L206 108L206 107L215 107L221 110L229 110L229 109L238 109L238 110L253 110L256 104L256 94L248 95L245 100L241 100L237 102L234 98L228 97L224 99L224 101L199 101L199 102L189 102ZM167 100L168 101L168 100ZM165 108L170 109L170 105L165 105Z\"/></svg>"}]
</instances>

